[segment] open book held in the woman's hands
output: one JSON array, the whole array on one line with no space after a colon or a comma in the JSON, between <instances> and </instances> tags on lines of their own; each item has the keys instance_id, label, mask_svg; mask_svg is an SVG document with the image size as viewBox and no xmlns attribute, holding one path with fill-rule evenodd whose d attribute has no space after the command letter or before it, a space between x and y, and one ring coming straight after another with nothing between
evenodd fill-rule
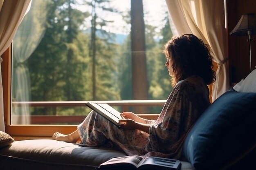
<instances>
[{"instance_id":1,"label":"open book held in the woman's hands","mask_svg":"<svg viewBox=\"0 0 256 170\"><path fill-rule=\"evenodd\" d=\"M120 119L124 119L121 116L121 113L106 103L88 102L85 104L85 106L88 106L89 108L99 113L101 116L105 117L106 119L108 119L109 121L111 121L113 124L117 126L124 124L124 122L119 123Z\"/></svg>"}]
</instances>

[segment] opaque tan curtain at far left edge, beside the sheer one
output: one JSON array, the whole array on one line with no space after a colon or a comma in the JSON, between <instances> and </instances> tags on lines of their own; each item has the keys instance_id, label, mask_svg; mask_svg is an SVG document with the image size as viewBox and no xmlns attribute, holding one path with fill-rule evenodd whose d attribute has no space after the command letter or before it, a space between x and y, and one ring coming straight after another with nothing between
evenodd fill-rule
<instances>
[{"instance_id":1,"label":"opaque tan curtain at far left edge, beside the sheer one","mask_svg":"<svg viewBox=\"0 0 256 170\"><path fill-rule=\"evenodd\" d=\"M30 0L0 0L0 56L11 45L16 30L27 11ZM4 60L4 58L0 58ZM0 66L0 130L4 128L4 104L2 89L2 73Z\"/></svg>"}]
</instances>

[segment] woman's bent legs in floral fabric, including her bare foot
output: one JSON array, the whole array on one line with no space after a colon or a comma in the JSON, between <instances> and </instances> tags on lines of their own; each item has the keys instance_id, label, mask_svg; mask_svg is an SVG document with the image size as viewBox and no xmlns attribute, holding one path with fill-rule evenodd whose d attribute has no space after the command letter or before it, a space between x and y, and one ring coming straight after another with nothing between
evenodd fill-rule
<instances>
[{"instance_id":1,"label":"woman's bent legs in floral fabric, including her bare foot","mask_svg":"<svg viewBox=\"0 0 256 170\"><path fill-rule=\"evenodd\" d=\"M127 155L145 155L148 150L148 134L140 130L119 129L115 124L92 111L84 121L77 126L77 130L69 135L56 132L53 136L59 141L75 143L81 138L83 146L95 147L111 144Z\"/></svg>"}]
</instances>

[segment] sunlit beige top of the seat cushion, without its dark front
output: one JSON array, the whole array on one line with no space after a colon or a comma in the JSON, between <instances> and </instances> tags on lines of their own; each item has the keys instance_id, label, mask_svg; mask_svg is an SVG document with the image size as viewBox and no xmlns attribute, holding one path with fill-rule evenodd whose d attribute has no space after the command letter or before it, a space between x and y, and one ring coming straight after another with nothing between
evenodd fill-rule
<instances>
[{"instance_id":1,"label":"sunlit beige top of the seat cushion, without its dark front","mask_svg":"<svg viewBox=\"0 0 256 170\"><path fill-rule=\"evenodd\" d=\"M113 157L127 156L124 152L106 148L82 147L52 139L15 141L0 149L0 155L18 158L16 161L32 161L59 165L76 165L94 169ZM0 158L1 159L1 158ZM2 157L4 159L4 157ZM5 158L7 159L7 158ZM2 163L0 163L2 165ZM91 166L91 167L90 167ZM37 169L37 168L36 168Z\"/></svg>"}]
</instances>

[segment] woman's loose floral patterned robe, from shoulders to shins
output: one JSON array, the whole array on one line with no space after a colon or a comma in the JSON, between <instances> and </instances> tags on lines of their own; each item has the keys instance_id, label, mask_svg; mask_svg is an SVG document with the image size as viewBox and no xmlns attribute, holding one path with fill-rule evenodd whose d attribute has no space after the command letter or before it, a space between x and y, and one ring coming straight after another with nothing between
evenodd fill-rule
<instances>
[{"instance_id":1,"label":"woman's loose floral patterned robe, from shoulders to shins","mask_svg":"<svg viewBox=\"0 0 256 170\"><path fill-rule=\"evenodd\" d=\"M78 126L83 146L116 147L127 155L144 155L180 159L187 132L210 105L209 89L199 76L176 84L149 134L141 130L119 129L92 111Z\"/></svg>"}]
</instances>

